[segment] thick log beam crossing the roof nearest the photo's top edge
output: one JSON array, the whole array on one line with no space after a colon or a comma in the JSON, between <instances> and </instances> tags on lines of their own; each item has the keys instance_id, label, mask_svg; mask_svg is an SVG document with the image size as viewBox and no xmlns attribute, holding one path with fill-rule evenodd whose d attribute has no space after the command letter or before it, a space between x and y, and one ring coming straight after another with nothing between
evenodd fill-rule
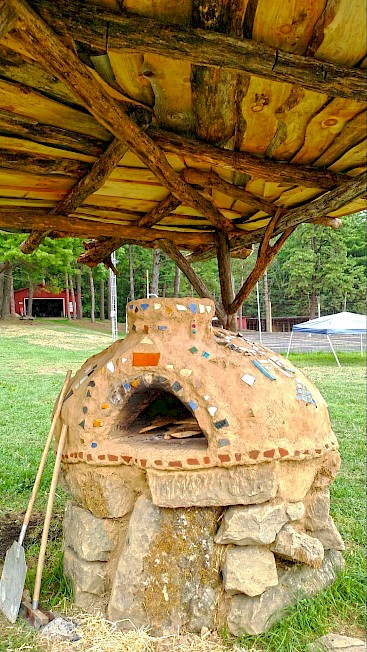
<instances>
[{"instance_id":1,"label":"thick log beam crossing the roof nearest the photo's top edge","mask_svg":"<svg viewBox=\"0 0 367 652\"><path fill-rule=\"evenodd\" d=\"M274 81L299 84L332 97L365 101L366 73L355 68L318 61L285 52L245 38L228 37L203 29L165 25L146 16L112 14L102 7L75 12L63 2L62 15L51 2L37 0L77 41L114 52L151 52L199 66L217 67L234 73L249 73ZM74 9L74 11L72 10Z\"/></svg>"}]
</instances>

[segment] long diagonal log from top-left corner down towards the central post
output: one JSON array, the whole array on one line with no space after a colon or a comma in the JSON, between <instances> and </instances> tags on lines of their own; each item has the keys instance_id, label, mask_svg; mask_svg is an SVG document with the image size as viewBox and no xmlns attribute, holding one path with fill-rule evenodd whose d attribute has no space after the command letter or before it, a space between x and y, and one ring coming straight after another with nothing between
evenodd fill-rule
<instances>
[{"instance_id":1,"label":"long diagonal log from top-left corner down towards the central post","mask_svg":"<svg viewBox=\"0 0 367 652\"><path fill-rule=\"evenodd\" d=\"M208 199L181 179L159 147L126 114L122 104L109 95L87 66L26 3L22 0L7 0L7 3L19 18L17 35L27 51L64 82L100 124L124 141L182 203L205 215L216 228L229 231L235 228Z\"/></svg>"}]
</instances>

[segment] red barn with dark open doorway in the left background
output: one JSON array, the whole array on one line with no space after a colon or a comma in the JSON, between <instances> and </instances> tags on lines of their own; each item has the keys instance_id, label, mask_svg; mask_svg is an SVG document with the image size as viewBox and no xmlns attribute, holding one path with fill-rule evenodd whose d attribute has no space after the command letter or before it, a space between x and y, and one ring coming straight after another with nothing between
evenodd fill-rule
<instances>
[{"instance_id":1,"label":"red barn with dark open doorway in the left background","mask_svg":"<svg viewBox=\"0 0 367 652\"><path fill-rule=\"evenodd\" d=\"M29 301L29 288L14 291L15 312L26 315ZM70 314L73 314L73 303L69 301ZM67 312L66 290L58 294L48 292L39 285L33 292L33 317L65 317Z\"/></svg>"}]
</instances>

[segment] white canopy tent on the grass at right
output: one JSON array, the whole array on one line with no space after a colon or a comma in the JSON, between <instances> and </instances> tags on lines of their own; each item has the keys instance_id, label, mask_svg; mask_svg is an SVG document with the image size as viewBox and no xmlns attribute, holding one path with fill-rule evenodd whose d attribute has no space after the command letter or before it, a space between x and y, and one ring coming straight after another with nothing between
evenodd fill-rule
<instances>
[{"instance_id":1,"label":"white canopy tent on the grass at right","mask_svg":"<svg viewBox=\"0 0 367 652\"><path fill-rule=\"evenodd\" d=\"M366 315L358 315L354 312L338 312L336 315L318 317L317 319L302 322L302 324L296 324L292 328L291 338L288 344L287 358L291 349L294 332L326 335L335 360L340 367L341 364L332 345L330 335L360 335L361 352L363 353L362 335L363 333L367 333L367 318Z\"/></svg>"}]
</instances>

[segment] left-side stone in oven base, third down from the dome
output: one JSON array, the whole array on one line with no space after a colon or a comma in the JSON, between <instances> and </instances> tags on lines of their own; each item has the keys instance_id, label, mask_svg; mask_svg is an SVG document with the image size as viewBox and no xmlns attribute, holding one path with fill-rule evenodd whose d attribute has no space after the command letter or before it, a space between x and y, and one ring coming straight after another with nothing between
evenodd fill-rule
<instances>
[{"instance_id":1,"label":"left-side stone in oven base, third down from the dome","mask_svg":"<svg viewBox=\"0 0 367 652\"><path fill-rule=\"evenodd\" d=\"M85 561L69 547L64 550L64 574L81 591L104 595L108 587L107 564L103 561Z\"/></svg>"}]
</instances>

